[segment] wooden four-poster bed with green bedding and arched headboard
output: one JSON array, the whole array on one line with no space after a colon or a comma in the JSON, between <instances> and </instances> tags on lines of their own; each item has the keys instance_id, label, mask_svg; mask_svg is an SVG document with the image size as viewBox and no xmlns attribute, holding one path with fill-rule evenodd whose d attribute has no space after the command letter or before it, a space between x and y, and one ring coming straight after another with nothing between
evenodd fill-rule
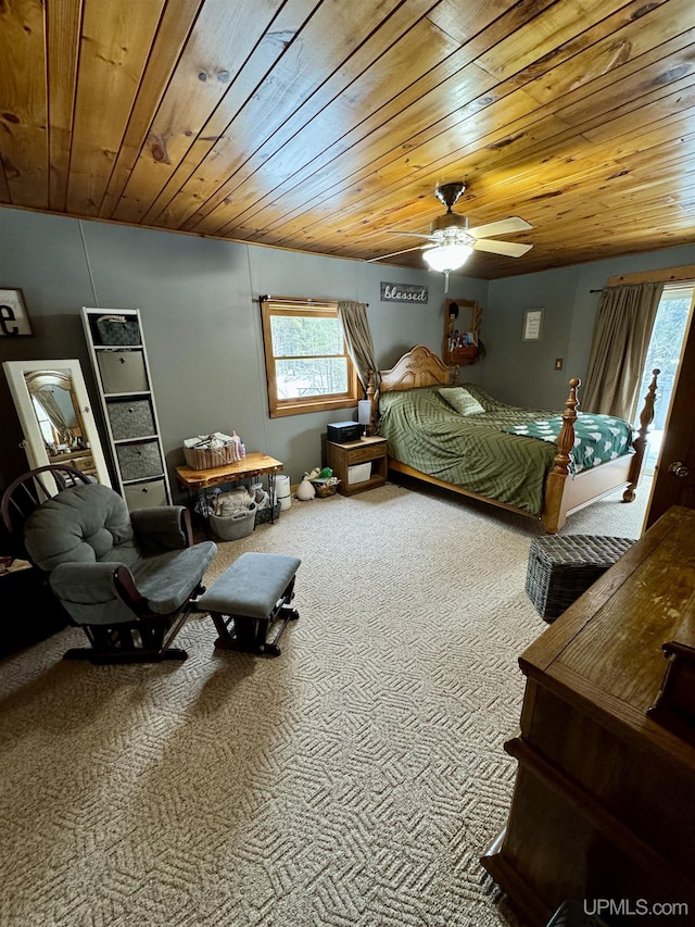
<instances>
[{"instance_id":1,"label":"wooden four-poster bed with green bedding and arched headboard","mask_svg":"<svg viewBox=\"0 0 695 927\"><path fill-rule=\"evenodd\" d=\"M554 413L497 402L476 385L459 385L457 374L417 346L379 372L378 409L370 379L375 429L389 442L390 471L540 518L548 534L616 491L632 502L658 371L634 434L621 419L578 413L578 378L569 381L565 409Z\"/></svg>"}]
</instances>

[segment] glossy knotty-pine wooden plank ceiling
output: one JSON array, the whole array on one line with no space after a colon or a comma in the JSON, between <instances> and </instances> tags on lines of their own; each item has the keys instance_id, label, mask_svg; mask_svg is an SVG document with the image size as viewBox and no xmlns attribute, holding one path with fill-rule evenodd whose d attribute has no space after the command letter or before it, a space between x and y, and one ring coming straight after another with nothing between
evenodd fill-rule
<instances>
[{"instance_id":1,"label":"glossy knotty-pine wooden plank ceiling","mask_svg":"<svg viewBox=\"0 0 695 927\"><path fill-rule=\"evenodd\" d=\"M0 204L370 259L463 180L533 226L473 276L684 245L694 42L693 0L2 0Z\"/></svg>"}]
</instances>

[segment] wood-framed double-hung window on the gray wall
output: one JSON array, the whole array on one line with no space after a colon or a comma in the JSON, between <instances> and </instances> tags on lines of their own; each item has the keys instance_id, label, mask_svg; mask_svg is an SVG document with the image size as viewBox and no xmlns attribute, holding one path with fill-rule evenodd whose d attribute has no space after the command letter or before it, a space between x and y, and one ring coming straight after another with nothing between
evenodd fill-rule
<instances>
[{"instance_id":1,"label":"wood-framed double-hung window on the gray wall","mask_svg":"<svg viewBox=\"0 0 695 927\"><path fill-rule=\"evenodd\" d=\"M261 316L271 418L357 404L334 302L262 297Z\"/></svg>"}]
</instances>

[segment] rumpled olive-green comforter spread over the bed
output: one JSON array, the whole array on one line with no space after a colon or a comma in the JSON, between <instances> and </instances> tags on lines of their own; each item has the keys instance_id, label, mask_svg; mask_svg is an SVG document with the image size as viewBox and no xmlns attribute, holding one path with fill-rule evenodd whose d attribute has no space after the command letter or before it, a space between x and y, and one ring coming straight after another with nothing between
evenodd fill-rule
<instances>
[{"instance_id":1,"label":"rumpled olive-green comforter spread over the bed","mask_svg":"<svg viewBox=\"0 0 695 927\"><path fill-rule=\"evenodd\" d=\"M540 516L545 477L557 447L545 438L505 429L547 422L548 412L505 405L472 384L464 386L484 412L455 412L435 387L383 393L379 434L389 442L390 456L444 483Z\"/></svg>"}]
</instances>

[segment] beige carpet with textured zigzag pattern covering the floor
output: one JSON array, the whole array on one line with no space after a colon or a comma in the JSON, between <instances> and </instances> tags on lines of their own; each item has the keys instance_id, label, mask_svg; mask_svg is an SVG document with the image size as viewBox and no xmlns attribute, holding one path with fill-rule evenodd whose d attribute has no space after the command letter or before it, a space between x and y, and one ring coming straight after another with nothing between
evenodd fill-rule
<instances>
[{"instance_id":1,"label":"beige carpet with textured zigzag pattern covering the floor","mask_svg":"<svg viewBox=\"0 0 695 927\"><path fill-rule=\"evenodd\" d=\"M642 515L614 498L567 530L637 537ZM214 564L303 559L280 657L215 652L197 618L184 664L62 662L73 629L0 662L0 924L516 924L478 859L546 627L540 534L391 485L294 501Z\"/></svg>"}]
</instances>

